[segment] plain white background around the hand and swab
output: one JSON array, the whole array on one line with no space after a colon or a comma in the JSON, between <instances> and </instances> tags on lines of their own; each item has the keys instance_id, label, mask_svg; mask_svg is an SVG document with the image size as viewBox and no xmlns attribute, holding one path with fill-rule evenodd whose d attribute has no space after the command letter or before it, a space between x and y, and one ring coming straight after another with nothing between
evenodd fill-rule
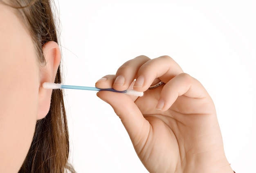
<instances>
[{"instance_id":1,"label":"plain white background around the hand and swab","mask_svg":"<svg viewBox=\"0 0 256 173\"><path fill-rule=\"evenodd\" d=\"M236 172L255 171L254 0L55 0L64 83L94 86L138 55L169 55L216 104ZM65 90L70 159L79 173L147 173L119 118L94 91Z\"/></svg>"}]
</instances>

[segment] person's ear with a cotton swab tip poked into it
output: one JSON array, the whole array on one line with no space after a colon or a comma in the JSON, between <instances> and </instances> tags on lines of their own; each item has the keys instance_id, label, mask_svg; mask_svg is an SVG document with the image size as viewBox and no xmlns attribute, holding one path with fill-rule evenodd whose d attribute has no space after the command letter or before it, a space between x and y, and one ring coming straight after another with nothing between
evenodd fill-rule
<instances>
[{"instance_id":1,"label":"person's ear with a cotton swab tip poked into it","mask_svg":"<svg viewBox=\"0 0 256 173\"><path fill-rule=\"evenodd\" d=\"M40 88L38 93L37 119L44 118L50 109L52 90L43 88L44 82L55 81L58 66L61 61L61 52L56 42L50 41L43 45L43 55L46 65L40 66Z\"/></svg>"}]
</instances>

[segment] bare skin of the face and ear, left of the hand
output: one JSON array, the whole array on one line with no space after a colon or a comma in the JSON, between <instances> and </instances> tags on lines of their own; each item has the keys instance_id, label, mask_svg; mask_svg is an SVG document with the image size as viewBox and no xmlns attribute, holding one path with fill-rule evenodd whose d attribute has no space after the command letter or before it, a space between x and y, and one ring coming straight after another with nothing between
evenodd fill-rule
<instances>
[{"instance_id":1,"label":"bare skin of the face and ear, left of the hand","mask_svg":"<svg viewBox=\"0 0 256 173\"><path fill-rule=\"evenodd\" d=\"M38 62L28 29L11 7L0 3L0 172L16 173L34 135L36 120L49 111L60 52L58 44L43 46L47 64Z\"/></svg>"}]
</instances>

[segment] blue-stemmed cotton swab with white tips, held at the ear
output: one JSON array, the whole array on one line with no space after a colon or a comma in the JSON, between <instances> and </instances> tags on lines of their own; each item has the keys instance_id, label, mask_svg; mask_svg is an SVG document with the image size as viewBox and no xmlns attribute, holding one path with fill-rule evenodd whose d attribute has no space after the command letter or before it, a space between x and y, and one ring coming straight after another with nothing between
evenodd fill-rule
<instances>
[{"instance_id":1,"label":"blue-stemmed cotton swab with white tips, held at the ear","mask_svg":"<svg viewBox=\"0 0 256 173\"><path fill-rule=\"evenodd\" d=\"M91 90L91 91L112 91L112 92L119 92L124 93L132 96L143 96L143 92L138 92L135 90L124 90L124 91L117 91L113 88L96 88L96 87L85 87L85 86L74 86L74 85L62 85L61 83L49 83L45 82L43 83L43 88L45 89L75 89L75 90Z\"/></svg>"}]
</instances>

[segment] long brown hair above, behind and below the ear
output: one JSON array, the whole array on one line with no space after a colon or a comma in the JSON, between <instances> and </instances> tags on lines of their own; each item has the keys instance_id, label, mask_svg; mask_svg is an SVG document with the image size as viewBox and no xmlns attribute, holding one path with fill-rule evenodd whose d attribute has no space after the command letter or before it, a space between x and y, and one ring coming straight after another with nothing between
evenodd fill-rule
<instances>
[{"instance_id":1,"label":"long brown hair above, behind and below the ear","mask_svg":"<svg viewBox=\"0 0 256 173\"><path fill-rule=\"evenodd\" d=\"M7 4L7 2L0 2ZM17 9L35 45L38 60L45 65L42 47L49 41L58 43L52 4L50 0L8 0L8 5ZM58 68L55 83L61 83ZM68 163L69 134L63 93L53 90L50 110L45 118L38 120L31 147L19 173L74 173Z\"/></svg>"}]
</instances>

